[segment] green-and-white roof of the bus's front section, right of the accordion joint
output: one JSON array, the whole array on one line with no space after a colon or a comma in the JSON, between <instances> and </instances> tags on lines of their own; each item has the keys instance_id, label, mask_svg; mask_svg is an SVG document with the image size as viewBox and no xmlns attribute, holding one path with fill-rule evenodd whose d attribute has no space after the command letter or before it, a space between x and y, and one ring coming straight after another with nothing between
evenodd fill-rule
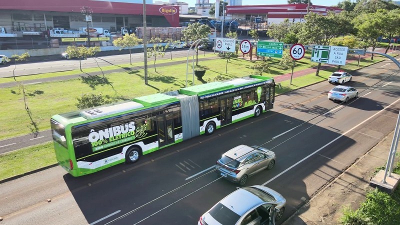
<instances>
[{"instance_id":1,"label":"green-and-white roof of the bus's front section, right of the accordion joint","mask_svg":"<svg viewBox=\"0 0 400 225\"><path fill-rule=\"evenodd\" d=\"M248 85L251 83L257 83L259 81L265 81L265 80L272 81L273 79L271 77L266 77L266 76L250 75L250 76L231 79L225 82L215 81L215 82L180 88L179 93L200 96L234 87Z\"/></svg>"}]
</instances>

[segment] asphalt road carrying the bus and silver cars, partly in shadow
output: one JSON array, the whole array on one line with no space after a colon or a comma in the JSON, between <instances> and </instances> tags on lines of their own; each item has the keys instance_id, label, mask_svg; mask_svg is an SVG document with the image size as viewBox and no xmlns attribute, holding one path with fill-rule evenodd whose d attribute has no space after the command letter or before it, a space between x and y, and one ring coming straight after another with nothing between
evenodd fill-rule
<instances>
[{"instance_id":1,"label":"asphalt road carrying the bus and silver cars, partly in shadow","mask_svg":"<svg viewBox=\"0 0 400 225\"><path fill-rule=\"evenodd\" d=\"M277 96L274 109L258 118L145 155L133 165L76 178L57 166L1 183L1 223L196 224L236 188L211 170L222 152L238 144L275 151L275 167L246 185L280 192L287 200L284 220L394 129L400 80L398 68L385 63L353 77L348 85L360 97L346 104L328 100L333 85L321 82Z\"/></svg>"}]
</instances>

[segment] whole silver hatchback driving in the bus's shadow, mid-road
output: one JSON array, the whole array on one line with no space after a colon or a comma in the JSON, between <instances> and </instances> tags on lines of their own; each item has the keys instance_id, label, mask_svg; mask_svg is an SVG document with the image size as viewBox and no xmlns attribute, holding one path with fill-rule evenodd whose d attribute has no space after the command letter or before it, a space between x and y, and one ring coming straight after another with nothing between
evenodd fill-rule
<instances>
[{"instance_id":1,"label":"whole silver hatchback driving in the bus's shadow, mid-road","mask_svg":"<svg viewBox=\"0 0 400 225\"><path fill-rule=\"evenodd\" d=\"M222 154L216 161L215 172L242 186L249 176L273 168L275 160L275 153L271 150L241 144Z\"/></svg>"}]
</instances>

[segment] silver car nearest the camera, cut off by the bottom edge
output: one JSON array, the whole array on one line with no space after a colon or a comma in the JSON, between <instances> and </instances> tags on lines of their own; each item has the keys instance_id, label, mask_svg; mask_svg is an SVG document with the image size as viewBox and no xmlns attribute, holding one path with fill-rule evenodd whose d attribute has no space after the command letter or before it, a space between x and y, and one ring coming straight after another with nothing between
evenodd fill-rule
<instances>
[{"instance_id":1,"label":"silver car nearest the camera, cut off by the bottom edge","mask_svg":"<svg viewBox=\"0 0 400 225\"><path fill-rule=\"evenodd\" d=\"M200 216L197 225L275 224L286 199L266 186L237 188Z\"/></svg>"}]
</instances>

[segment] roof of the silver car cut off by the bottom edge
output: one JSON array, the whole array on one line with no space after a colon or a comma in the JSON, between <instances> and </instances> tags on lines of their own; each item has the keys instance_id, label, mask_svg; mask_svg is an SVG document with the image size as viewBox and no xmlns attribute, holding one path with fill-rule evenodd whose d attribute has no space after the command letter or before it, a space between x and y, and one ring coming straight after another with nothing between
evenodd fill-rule
<instances>
[{"instance_id":1,"label":"roof of the silver car cut off by the bottom edge","mask_svg":"<svg viewBox=\"0 0 400 225\"><path fill-rule=\"evenodd\" d=\"M243 188L233 191L220 201L221 204L240 216L262 202L264 201L261 198Z\"/></svg>"}]
</instances>

